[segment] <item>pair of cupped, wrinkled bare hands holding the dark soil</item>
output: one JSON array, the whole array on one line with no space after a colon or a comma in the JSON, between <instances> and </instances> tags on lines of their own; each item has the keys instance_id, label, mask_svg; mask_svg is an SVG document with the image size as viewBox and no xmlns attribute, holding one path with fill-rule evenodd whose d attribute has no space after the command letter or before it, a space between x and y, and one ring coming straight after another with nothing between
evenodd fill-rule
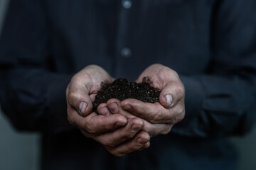
<instances>
[{"instance_id":1,"label":"pair of cupped, wrinkled bare hands holding the dark soil","mask_svg":"<svg viewBox=\"0 0 256 170\"><path fill-rule=\"evenodd\" d=\"M100 84L114 79L101 67L85 67L75 74L66 91L68 120L115 156L149 147L150 137L168 134L183 119L185 90L178 74L161 64L146 68L137 82L143 77L150 77L153 86L161 90L159 102L112 98L98 106L97 115L91 113L92 101Z\"/></svg>"}]
</instances>

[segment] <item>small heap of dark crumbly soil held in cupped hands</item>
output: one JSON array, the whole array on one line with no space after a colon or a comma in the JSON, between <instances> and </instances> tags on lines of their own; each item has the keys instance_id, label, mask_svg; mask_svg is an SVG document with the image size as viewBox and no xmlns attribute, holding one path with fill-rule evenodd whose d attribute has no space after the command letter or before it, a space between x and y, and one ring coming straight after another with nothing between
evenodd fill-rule
<instances>
[{"instance_id":1,"label":"small heap of dark crumbly soil held in cupped hands","mask_svg":"<svg viewBox=\"0 0 256 170\"><path fill-rule=\"evenodd\" d=\"M102 89L97 92L95 101L92 103L92 111L97 113L97 106L100 103L107 103L110 98L117 98L119 101L135 98L143 102L159 102L161 91L150 86L150 84L150 79L146 77L144 77L142 83L130 82L127 79L116 79L112 84L103 84Z\"/></svg>"}]
</instances>

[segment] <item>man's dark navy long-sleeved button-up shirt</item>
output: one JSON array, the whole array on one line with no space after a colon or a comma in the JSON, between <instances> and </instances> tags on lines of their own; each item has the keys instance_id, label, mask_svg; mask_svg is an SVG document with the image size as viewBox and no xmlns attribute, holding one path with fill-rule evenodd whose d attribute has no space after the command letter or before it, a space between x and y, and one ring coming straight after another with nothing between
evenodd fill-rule
<instances>
[{"instance_id":1,"label":"man's dark navy long-sleeved button-up shirt","mask_svg":"<svg viewBox=\"0 0 256 170\"><path fill-rule=\"evenodd\" d=\"M134 81L178 72L186 116L114 157L68 123L65 89L89 64ZM12 0L0 40L1 107L42 133L42 169L235 169L227 137L256 120L255 0Z\"/></svg>"}]
</instances>

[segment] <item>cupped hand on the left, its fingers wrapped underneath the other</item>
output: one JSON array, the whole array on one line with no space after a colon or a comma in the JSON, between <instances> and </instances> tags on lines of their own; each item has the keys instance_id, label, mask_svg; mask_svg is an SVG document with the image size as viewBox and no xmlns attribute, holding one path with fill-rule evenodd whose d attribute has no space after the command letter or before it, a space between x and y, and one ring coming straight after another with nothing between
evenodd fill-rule
<instances>
[{"instance_id":1,"label":"cupped hand on the left, its fingers wrapped underneath the other","mask_svg":"<svg viewBox=\"0 0 256 170\"><path fill-rule=\"evenodd\" d=\"M74 75L66 89L68 120L82 134L104 145L115 156L149 147L149 134L141 131L144 123L139 118L127 120L124 115L108 114L101 105L92 112L92 101L102 82L114 79L101 67L90 65Z\"/></svg>"}]
</instances>

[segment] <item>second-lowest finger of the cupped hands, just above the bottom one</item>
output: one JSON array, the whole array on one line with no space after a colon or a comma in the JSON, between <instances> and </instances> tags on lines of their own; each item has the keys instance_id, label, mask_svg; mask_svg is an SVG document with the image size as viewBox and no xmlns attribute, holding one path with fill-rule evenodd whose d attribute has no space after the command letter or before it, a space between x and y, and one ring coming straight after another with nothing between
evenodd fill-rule
<instances>
[{"instance_id":1,"label":"second-lowest finger of the cupped hands, just above the bottom one","mask_svg":"<svg viewBox=\"0 0 256 170\"><path fill-rule=\"evenodd\" d=\"M114 147L120 143L132 139L143 128L143 121L140 118L132 118L128 120L127 125L113 132L107 132L95 137L95 140L102 145Z\"/></svg>"}]
</instances>

